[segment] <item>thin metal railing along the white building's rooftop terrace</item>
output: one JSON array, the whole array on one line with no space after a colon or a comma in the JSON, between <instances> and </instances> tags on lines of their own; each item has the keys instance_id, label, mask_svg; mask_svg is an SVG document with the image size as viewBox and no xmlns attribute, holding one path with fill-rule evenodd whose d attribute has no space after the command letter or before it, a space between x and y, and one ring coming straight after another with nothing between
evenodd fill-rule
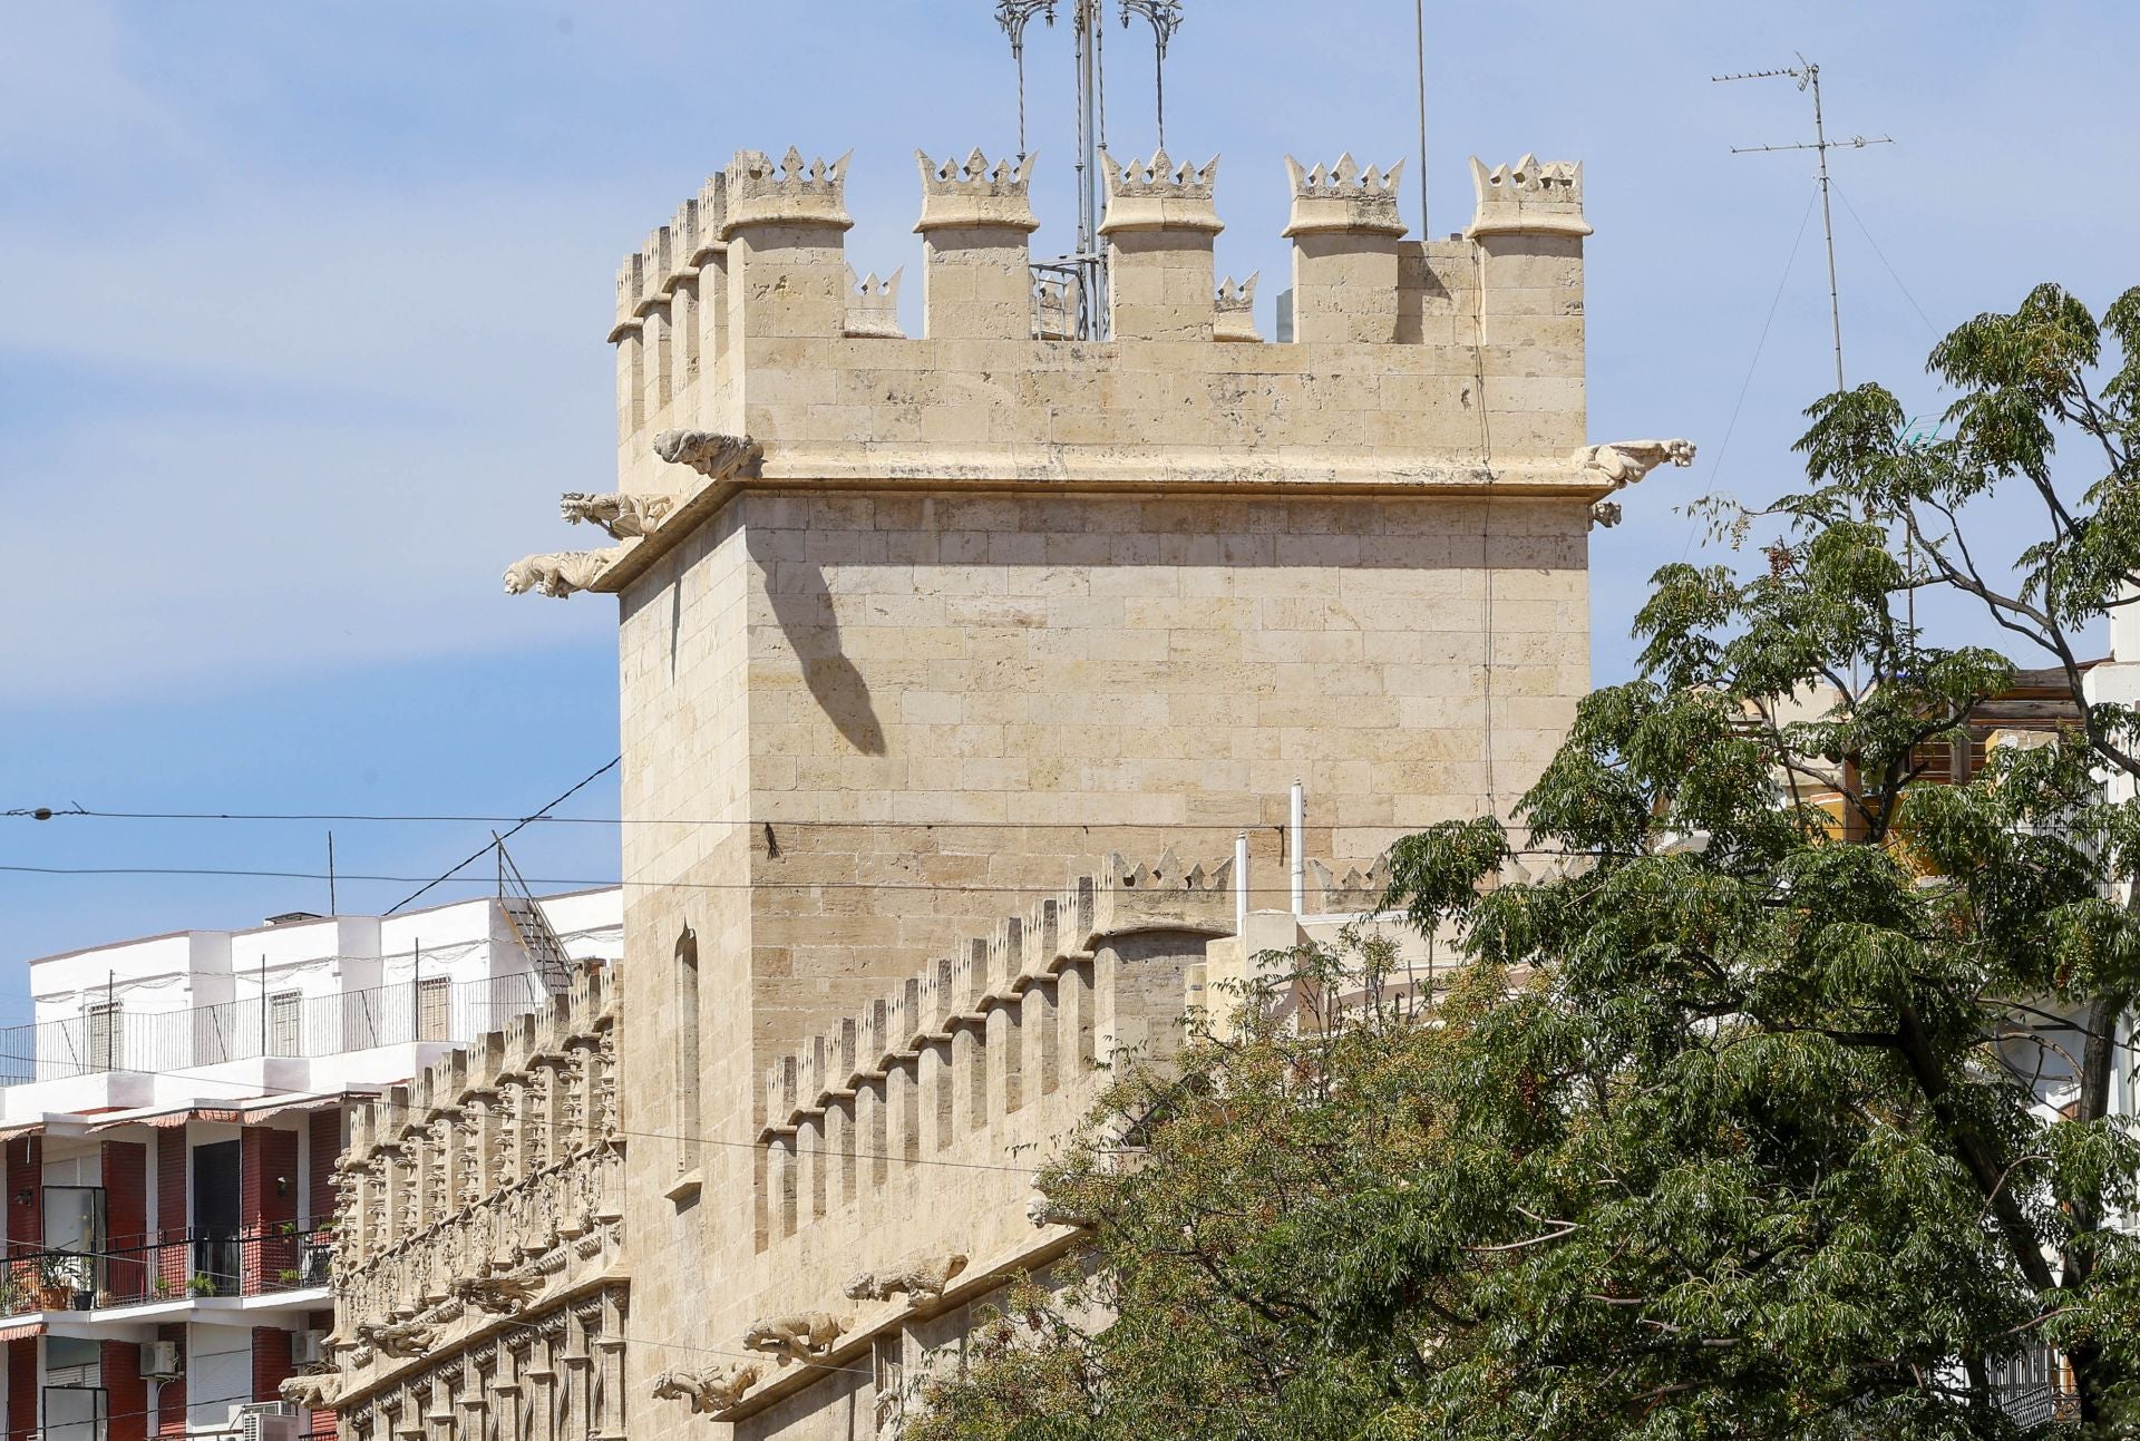
<instances>
[{"instance_id":1,"label":"thin metal railing along the white building's rooftop terrace","mask_svg":"<svg viewBox=\"0 0 2140 1441\"><path fill-rule=\"evenodd\" d=\"M272 985L272 981L270 981ZM0 1030L0 1083L62 1081L105 1071L188 1071L259 1056L340 1056L411 1041L469 1041L548 1000L541 976L422 976L364 991L295 991L128 1013L92 1008L66 1021Z\"/></svg>"}]
</instances>

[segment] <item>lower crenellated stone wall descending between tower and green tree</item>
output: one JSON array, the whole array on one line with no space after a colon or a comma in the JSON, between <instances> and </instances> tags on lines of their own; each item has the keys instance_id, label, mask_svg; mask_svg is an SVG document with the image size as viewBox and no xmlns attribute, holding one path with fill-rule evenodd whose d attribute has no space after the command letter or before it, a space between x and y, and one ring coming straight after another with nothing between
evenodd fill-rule
<instances>
[{"instance_id":1,"label":"lower crenellated stone wall descending between tower and green tree","mask_svg":"<svg viewBox=\"0 0 2140 1441\"><path fill-rule=\"evenodd\" d=\"M897 1420L946 1317L1072 1246L1064 1218L1029 1214L1031 1169L1115 1068L1175 1051L1186 979L1235 906L1228 863L1168 852L1091 871L766 1066L749 1225L719 1218L721 1285L687 1313L691 1345L755 1366L719 1411L734 1435L888 1435L877 1424ZM912 1274L924 1280L871 1285ZM659 1278L636 1276L636 1310L666 1315ZM813 1315L809 1355L745 1360L758 1321ZM633 1349L629 1385L674 1364ZM687 1426L687 1409L655 1405L633 1435Z\"/></svg>"}]
</instances>

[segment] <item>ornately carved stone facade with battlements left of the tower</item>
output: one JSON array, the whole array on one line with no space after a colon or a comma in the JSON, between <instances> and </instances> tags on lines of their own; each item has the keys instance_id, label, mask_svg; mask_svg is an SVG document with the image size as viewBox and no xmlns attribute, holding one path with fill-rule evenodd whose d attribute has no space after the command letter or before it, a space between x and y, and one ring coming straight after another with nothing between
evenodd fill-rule
<instances>
[{"instance_id":1,"label":"ornately carved stone facade with battlements left of the tower","mask_svg":"<svg viewBox=\"0 0 2140 1441\"><path fill-rule=\"evenodd\" d=\"M614 970L364 1105L336 1171L334 1366L362 1441L625 1435Z\"/></svg>"}]
</instances>

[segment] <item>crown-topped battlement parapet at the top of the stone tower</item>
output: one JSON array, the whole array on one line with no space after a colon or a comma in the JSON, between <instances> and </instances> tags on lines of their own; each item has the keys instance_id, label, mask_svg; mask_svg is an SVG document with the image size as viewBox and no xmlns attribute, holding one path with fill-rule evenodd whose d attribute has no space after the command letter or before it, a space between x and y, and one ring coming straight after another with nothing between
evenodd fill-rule
<instances>
[{"instance_id":1,"label":"crown-topped battlement parapet at the top of the stone tower","mask_svg":"<svg viewBox=\"0 0 2140 1441\"><path fill-rule=\"evenodd\" d=\"M903 268L850 263L850 156L743 150L625 257L618 490L678 492L663 430L758 437L764 467L681 495L591 589L627 589L678 525L755 484L1588 486L1569 465L1586 441L1579 165L1474 163L1466 238L1421 242L1402 163L1288 156L1290 345L1258 332L1254 278L1218 283L1218 158L1106 156L1106 343L1066 343L1076 280L1036 268L1036 156L916 167L918 334L897 315Z\"/></svg>"}]
</instances>

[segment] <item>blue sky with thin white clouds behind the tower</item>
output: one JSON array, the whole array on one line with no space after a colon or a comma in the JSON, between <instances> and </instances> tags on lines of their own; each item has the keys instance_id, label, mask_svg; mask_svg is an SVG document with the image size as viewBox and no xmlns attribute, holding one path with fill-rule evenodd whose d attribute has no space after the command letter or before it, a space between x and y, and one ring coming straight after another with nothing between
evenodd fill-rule
<instances>
[{"instance_id":1,"label":"blue sky with thin white clouds behind the tower","mask_svg":"<svg viewBox=\"0 0 2140 1441\"><path fill-rule=\"evenodd\" d=\"M0 0L0 809L518 814L614 756L614 608L507 600L499 570L569 542L561 490L608 488L616 257L738 146L794 143L856 150L860 268L914 261L914 148L1014 148L989 11ZM1220 266L1263 270L1269 310L1282 156L1415 150L1412 6L1186 11L1171 148L1224 156ZM1836 161L1849 362L1932 409L1935 328L2039 278L2097 304L2140 280L2119 169L2140 148L2136 15L1427 4L1434 231L1470 212L1470 154L1584 161L1592 437L1703 448L1596 537L1601 681L1629 670L1644 578L1688 552L1673 505L1785 488L1830 377L1810 161L1727 154L1804 135L1806 98L1708 77L1804 49L1834 133L1894 135ZM1111 139L1147 150L1145 54L1111 39ZM1064 36L1036 34L1029 64L1059 242ZM614 807L603 782L567 814ZM0 863L308 871L323 831L0 820ZM484 839L336 826L345 871L437 874ZM554 826L516 854L606 878L616 837ZM0 1023L24 1015L26 957L323 904L315 882L0 874Z\"/></svg>"}]
</instances>

